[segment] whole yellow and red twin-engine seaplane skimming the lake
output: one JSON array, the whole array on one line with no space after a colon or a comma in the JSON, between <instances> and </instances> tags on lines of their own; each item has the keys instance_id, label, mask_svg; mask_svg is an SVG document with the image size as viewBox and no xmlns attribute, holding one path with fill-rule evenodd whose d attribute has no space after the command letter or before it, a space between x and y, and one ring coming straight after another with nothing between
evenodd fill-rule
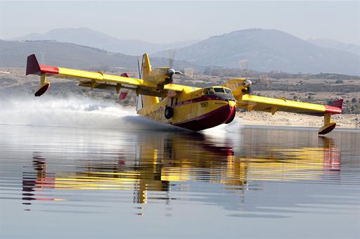
<instances>
[{"instance_id":1,"label":"whole yellow and red twin-engine seaplane skimming the lake","mask_svg":"<svg viewBox=\"0 0 360 239\"><path fill-rule=\"evenodd\" d=\"M331 115L342 112L342 99L330 105L318 105L288 101L285 98L253 96L250 93L250 79L231 79L223 86L206 88L173 84L173 76L184 73L172 67L152 69L147 53L143 54L141 65L142 74L139 73L140 79L136 79L127 73L118 76L39 65L36 56L32 54L27 57L26 75L40 76L40 86L35 96L41 96L49 89L47 77L72 79L79 81L79 86L115 90L117 93L121 89L134 90L138 96L136 112L139 115L192 131L229 124L236 115L236 108L242 108L271 112L273 115L277 111L286 111L323 116L324 124L319 134L327 134L336 126L336 122L331 121Z\"/></svg>"}]
</instances>

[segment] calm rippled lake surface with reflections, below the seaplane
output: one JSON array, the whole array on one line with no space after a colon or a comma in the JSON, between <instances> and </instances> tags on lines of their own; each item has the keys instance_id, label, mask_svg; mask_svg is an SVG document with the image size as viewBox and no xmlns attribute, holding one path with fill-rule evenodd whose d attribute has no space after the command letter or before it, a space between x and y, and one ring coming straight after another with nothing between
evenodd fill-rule
<instances>
[{"instance_id":1,"label":"calm rippled lake surface with reflections, below the seaplane","mask_svg":"<svg viewBox=\"0 0 360 239\"><path fill-rule=\"evenodd\" d=\"M0 238L359 238L360 134L0 125Z\"/></svg>"}]
</instances>

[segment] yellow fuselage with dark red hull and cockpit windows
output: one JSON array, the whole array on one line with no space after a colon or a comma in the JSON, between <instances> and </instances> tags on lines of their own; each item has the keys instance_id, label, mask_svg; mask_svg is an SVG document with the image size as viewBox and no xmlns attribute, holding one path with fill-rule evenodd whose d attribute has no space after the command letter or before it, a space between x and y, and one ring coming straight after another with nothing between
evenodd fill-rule
<instances>
[{"instance_id":1,"label":"yellow fuselage with dark red hull and cockpit windows","mask_svg":"<svg viewBox=\"0 0 360 239\"><path fill-rule=\"evenodd\" d=\"M141 101L141 97L138 100ZM167 108L171 108L172 114L165 112ZM231 91L222 86L195 91L190 89L167 96L163 101L146 106L137 113L150 120L200 131L230 123L235 117L236 100Z\"/></svg>"}]
</instances>

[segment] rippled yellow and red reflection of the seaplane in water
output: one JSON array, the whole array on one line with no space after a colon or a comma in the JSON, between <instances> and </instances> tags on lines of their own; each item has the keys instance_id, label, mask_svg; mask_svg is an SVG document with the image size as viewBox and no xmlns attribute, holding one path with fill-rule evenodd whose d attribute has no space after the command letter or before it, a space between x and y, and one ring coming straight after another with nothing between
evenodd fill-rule
<instances>
[{"instance_id":1,"label":"rippled yellow and red reflection of the seaplane in water","mask_svg":"<svg viewBox=\"0 0 360 239\"><path fill-rule=\"evenodd\" d=\"M119 153L117 160L85 161L71 172L46 172L49 164L34 154L34 172L23 174L23 200L41 198L46 188L66 190L134 190L134 202L146 203L147 192L170 192L173 183L203 181L246 190L250 181L320 179L340 170L340 152L328 138L319 148L272 149L262 155L234 153L203 134L154 134L139 139L136 156ZM127 154L128 155L128 154ZM110 163L111 162L111 163ZM32 171L33 171L32 169ZM27 204L29 204L27 202Z\"/></svg>"}]
</instances>

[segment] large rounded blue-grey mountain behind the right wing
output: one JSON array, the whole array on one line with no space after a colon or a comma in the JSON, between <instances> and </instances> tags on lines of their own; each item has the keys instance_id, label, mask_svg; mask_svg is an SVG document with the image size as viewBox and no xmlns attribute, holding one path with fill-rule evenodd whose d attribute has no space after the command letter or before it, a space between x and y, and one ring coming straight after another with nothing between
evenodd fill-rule
<instances>
[{"instance_id":1,"label":"large rounded blue-grey mountain behind the right wing","mask_svg":"<svg viewBox=\"0 0 360 239\"><path fill-rule=\"evenodd\" d=\"M155 56L166 57L167 51ZM359 55L319 47L278 30L239 30L210 37L176 49L176 60L222 67L239 67L239 60L248 60L248 68L264 72L360 75Z\"/></svg>"}]
</instances>

